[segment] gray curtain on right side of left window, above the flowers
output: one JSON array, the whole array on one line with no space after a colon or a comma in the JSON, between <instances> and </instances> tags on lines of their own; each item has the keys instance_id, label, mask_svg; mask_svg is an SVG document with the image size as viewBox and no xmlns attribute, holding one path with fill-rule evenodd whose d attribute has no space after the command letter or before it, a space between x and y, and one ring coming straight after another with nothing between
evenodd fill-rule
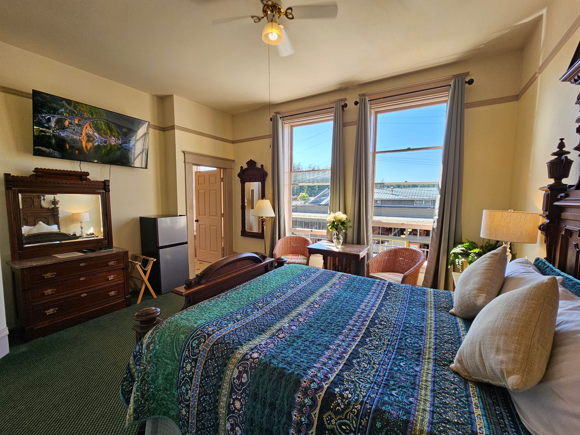
<instances>
[{"instance_id":1,"label":"gray curtain on right side of left window, above the flowers","mask_svg":"<svg viewBox=\"0 0 580 435\"><path fill-rule=\"evenodd\" d=\"M342 103L334 105L332 120L332 155L330 162L330 199L328 210L331 213L346 213L345 203L345 156L342 149ZM332 233L327 230L327 240L332 241Z\"/></svg>"}]
</instances>

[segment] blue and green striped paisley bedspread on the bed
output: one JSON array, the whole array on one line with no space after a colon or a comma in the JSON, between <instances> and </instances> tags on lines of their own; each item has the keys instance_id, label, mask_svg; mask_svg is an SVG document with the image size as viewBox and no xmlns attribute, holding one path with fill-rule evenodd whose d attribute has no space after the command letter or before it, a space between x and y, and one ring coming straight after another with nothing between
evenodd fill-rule
<instances>
[{"instance_id":1,"label":"blue and green striped paisley bedspread on the bed","mask_svg":"<svg viewBox=\"0 0 580 435\"><path fill-rule=\"evenodd\" d=\"M450 292L289 264L157 325L121 384L126 422L183 434L529 433L507 391L449 370Z\"/></svg>"}]
</instances>

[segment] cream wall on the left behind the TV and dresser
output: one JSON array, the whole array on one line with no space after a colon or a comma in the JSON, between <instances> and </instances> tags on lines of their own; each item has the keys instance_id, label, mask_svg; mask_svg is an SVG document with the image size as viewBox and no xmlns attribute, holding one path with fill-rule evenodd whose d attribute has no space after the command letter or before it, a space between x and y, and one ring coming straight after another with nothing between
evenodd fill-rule
<instances>
[{"instance_id":1,"label":"cream wall on the left behind the TV and dresser","mask_svg":"<svg viewBox=\"0 0 580 435\"><path fill-rule=\"evenodd\" d=\"M131 253L140 253L139 216L185 213L183 150L233 158L231 143L172 128L181 125L231 139L230 115L179 97L149 95L1 42L0 64L0 86L24 92L38 89L168 128L150 130L147 169L113 166L109 177L109 166L82 163L82 170L88 171L92 179L110 178L114 243ZM0 92L0 172L30 175L35 167L78 170L78 162L32 156L31 120L29 98ZM3 186L0 204L5 204ZM3 205L0 226L8 227ZM0 233L0 256L5 261L10 259L7 231ZM5 263L1 267L6 318L12 328L16 326L12 280L9 267Z\"/></svg>"}]
</instances>

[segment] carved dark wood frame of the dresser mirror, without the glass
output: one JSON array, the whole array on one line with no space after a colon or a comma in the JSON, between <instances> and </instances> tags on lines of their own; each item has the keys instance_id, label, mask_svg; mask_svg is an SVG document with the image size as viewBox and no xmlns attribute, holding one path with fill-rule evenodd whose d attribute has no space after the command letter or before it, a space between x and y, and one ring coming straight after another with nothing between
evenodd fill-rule
<instances>
[{"instance_id":1,"label":"carved dark wood frame of the dresser mirror, without the glass","mask_svg":"<svg viewBox=\"0 0 580 435\"><path fill-rule=\"evenodd\" d=\"M84 171L35 168L32 175L4 174L6 210L12 260L54 255L57 253L98 249L113 246L113 224L111 223L111 200L109 180L92 181ZM103 238L67 243L45 243L24 245L22 240L19 194L93 194L100 195Z\"/></svg>"}]
</instances>

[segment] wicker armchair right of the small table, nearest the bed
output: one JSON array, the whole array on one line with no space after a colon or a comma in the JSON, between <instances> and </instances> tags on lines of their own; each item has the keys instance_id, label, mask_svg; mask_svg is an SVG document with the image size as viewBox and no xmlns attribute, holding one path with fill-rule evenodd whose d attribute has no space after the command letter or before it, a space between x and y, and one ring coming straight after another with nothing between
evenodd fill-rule
<instances>
[{"instance_id":1,"label":"wicker armchair right of the small table, nearest the bed","mask_svg":"<svg viewBox=\"0 0 580 435\"><path fill-rule=\"evenodd\" d=\"M423 263L425 254L419 249L391 248L367 262L367 277L417 285Z\"/></svg>"}]
</instances>

